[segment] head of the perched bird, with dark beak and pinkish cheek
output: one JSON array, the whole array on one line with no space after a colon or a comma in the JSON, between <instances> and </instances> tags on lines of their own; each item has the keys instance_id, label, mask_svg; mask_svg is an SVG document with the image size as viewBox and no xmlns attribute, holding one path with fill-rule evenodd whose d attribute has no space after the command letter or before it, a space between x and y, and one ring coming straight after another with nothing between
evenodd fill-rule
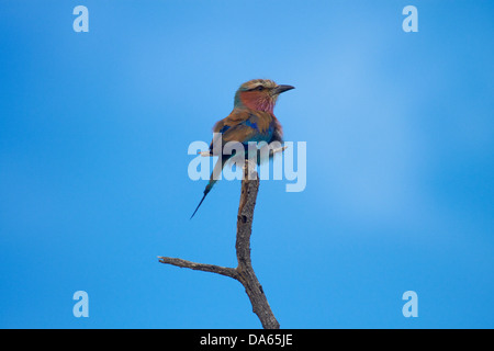
<instances>
[{"instance_id":1,"label":"head of the perched bird, with dark beak and pinkish cheek","mask_svg":"<svg viewBox=\"0 0 494 351\"><path fill-rule=\"evenodd\" d=\"M238 88L235 93L235 107L248 109L272 113L279 94L294 89L292 86L278 86L269 79L252 79Z\"/></svg>"}]
</instances>

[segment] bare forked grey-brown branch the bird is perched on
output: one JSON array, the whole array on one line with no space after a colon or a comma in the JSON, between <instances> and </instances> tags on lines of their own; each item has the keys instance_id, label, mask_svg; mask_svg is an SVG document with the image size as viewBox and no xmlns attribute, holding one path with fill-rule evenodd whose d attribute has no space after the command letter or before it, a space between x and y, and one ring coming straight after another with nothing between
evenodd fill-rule
<instances>
[{"instance_id":1,"label":"bare forked grey-brown branch the bird is perched on","mask_svg":"<svg viewBox=\"0 0 494 351\"><path fill-rule=\"evenodd\" d=\"M278 152L283 151L284 148ZM254 208L256 206L259 190L255 162L247 161L244 167L242 181L240 205L237 215L237 239L235 249L237 252L237 268L226 268L215 264L195 263L178 258L158 257L159 262L188 268L197 271L212 272L237 280L244 285L252 305L252 312L259 317L265 329L279 329L280 324L276 319L268 304L266 294L254 272L250 260L250 234L252 230Z\"/></svg>"}]
</instances>

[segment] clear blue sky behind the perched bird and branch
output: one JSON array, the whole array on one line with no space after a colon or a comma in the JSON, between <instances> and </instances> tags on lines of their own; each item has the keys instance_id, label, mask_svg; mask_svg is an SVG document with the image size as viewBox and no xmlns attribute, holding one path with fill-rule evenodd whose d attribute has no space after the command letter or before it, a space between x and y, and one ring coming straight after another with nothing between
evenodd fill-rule
<instances>
[{"instance_id":1,"label":"clear blue sky behind the perched bird and branch","mask_svg":"<svg viewBox=\"0 0 494 351\"><path fill-rule=\"evenodd\" d=\"M89 32L72 9L89 9ZM405 33L402 9L418 9ZM263 181L252 262L282 328L493 328L492 1L0 1L0 327L259 328L239 182L197 216L190 143L252 78L306 141ZM89 318L72 294L89 295ZM418 317L402 294L418 295Z\"/></svg>"}]
</instances>

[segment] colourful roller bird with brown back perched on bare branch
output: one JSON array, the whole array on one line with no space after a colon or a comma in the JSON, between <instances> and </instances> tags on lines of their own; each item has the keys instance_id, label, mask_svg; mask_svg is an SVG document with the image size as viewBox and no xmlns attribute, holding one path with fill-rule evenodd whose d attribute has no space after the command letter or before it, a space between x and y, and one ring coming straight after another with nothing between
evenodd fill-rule
<instances>
[{"instance_id":1,"label":"colourful roller bird with brown back perched on bare branch","mask_svg":"<svg viewBox=\"0 0 494 351\"><path fill-rule=\"evenodd\" d=\"M243 83L235 93L234 109L232 113L216 122L213 127L213 133L218 139L221 136L222 143L216 143L213 139L210 145L209 155L222 155L222 159L217 160L214 170L211 173L210 182L207 183L204 195L201 202L192 214L195 215L205 196L209 194L216 183L216 177L226 161L233 155L224 155L223 146L228 141L242 143L247 149L249 141L283 141L283 131L280 122L273 114L273 109L280 93L294 89L292 86L278 86L269 79L252 79Z\"/></svg>"}]
</instances>

